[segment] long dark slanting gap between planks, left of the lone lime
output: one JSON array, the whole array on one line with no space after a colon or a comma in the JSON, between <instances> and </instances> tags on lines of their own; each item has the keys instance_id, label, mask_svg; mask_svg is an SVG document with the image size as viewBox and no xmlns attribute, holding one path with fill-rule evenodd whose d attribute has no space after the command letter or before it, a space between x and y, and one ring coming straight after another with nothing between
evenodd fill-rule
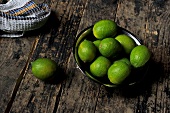
<instances>
[{"instance_id":1,"label":"long dark slanting gap between planks, left of the lone lime","mask_svg":"<svg viewBox=\"0 0 170 113\"><path fill-rule=\"evenodd\" d=\"M30 51L30 53L29 53L29 55L28 55L27 62L26 62L23 70L21 71L21 73L20 73L20 75L19 75L19 77L18 77L18 79L17 79L17 81L16 81L16 85L15 85L14 90L13 90L13 92L12 92L11 99L9 100L9 102L8 102L8 104L7 104L7 107L6 107L6 109L5 109L5 113L9 113L10 110L11 110L11 107L12 107L13 101L14 101L14 99L15 99L16 93L17 93L17 91L18 91L18 89L19 89L20 83L21 83L24 75L26 74L26 72L27 72L27 70L28 70L30 60L31 60L32 55L33 55L33 53L34 53L34 51L35 51L35 48L36 48L36 46L37 46L37 44L38 44L38 40L39 40L39 39L36 38L35 41L34 41L34 43L33 43L33 46L32 46L32 48L31 48L31 51Z\"/></svg>"}]
</instances>

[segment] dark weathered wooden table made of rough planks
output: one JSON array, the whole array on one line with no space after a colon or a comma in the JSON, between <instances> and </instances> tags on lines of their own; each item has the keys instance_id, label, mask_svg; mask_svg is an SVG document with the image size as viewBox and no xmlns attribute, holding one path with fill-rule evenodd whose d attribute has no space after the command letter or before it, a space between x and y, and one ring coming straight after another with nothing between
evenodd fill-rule
<instances>
[{"instance_id":1,"label":"dark weathered wooden table made of rough planks","mask_svg":"<svg viewBox=\"0 0 170 113\"><path fill-rule=\"evenodd\" d=\"M45 26L21 38L0 38L0 113L170 113L170 0L35 2L44 1L52 9ZM106 88L76 68L76 35L101 19L116 21L152 51L140 85ZM66 78L36 79L30 62L40 57L55 60Z\"/></svg>"}]
</instances>

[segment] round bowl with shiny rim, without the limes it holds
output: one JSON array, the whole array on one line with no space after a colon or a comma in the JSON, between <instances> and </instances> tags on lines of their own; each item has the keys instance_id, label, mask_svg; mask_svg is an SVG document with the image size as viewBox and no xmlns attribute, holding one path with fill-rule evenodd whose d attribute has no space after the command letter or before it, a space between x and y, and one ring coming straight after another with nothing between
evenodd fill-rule
<instances>
[{"instance_id":1,"label":"round bowl with shiny rim, without the limes it holds","mask_svg":"<svg viewBox=\"0 0 170 113\"><path fill-rule=\"evenodd\" d=\"M91 73L90 73L90 63L84 63L80 60L79 56L78 56L78 47L79 44L84 40L84 39L88 39L91 41L96 40L96 38L93 35L93 26L87 27L86 29L84 29L83 31L81 31L75 40L74 46L73 46L73 55L74 55L74 59L76 61L77 67L80 69L80 71L85 75L88 76L90 79L94 80L95 82L98 82L106 87L118 87L118 86L132 86L135 85L139 82L141 82L143 80L143 78L146 75L146 72L148 70L148 66L144 66L142 68L138 68L138 69L132 69L130 76L128 76L123 83L117 85L117 84L113 84L110 83L110 81L108 79L100 79L100 78L96 78L94 77ZM128 30L118 27L118 34L126 34L128 35L130 38L132 38L136 45L141 45L142 42L135 37L135 35L133 35L131 32L129 32Z\"/></svg>"}]
</instances>

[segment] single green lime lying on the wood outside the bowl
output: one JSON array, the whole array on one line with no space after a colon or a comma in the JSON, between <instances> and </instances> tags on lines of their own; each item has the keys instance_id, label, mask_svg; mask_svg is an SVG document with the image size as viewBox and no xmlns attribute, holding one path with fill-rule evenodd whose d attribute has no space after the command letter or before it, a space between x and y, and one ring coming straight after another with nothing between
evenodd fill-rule
<instances>
[{"instance_id":1,"label":"single green lime lying on the wood outside the bowl","mask_svg":"<svg viewBox=\"0 0 170 113\"><path fill-rule=\"evenodd\" d=\"M55 61L48 58L38 58L31 62L32 73L40 80L47 80L52 77L58 66Z\"/></svg>"}]
</instances>

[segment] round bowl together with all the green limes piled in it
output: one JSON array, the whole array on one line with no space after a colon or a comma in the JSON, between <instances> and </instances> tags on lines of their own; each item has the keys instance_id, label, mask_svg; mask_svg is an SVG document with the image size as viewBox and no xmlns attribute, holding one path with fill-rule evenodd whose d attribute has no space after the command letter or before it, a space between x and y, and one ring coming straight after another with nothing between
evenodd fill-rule
<instances>
[{"instance_id":1,"label":"round bowl together with all the green limes piled in it","mask_svg":"<svg viewBox=\"0 0 170 113\"><path fill-rule=\"evenodd\" d=\"M73 54L81 72L107 86L131 86L146 75L149 49L112 20L100 20L81 31Z\"/></svg>"}]
</instances>

